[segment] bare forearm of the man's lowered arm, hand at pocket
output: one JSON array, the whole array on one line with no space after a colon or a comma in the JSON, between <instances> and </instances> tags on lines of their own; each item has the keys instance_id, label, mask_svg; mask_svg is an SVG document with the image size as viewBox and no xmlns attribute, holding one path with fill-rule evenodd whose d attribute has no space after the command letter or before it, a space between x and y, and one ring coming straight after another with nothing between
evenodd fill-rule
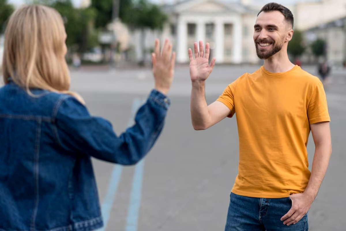
<instances>
[{"instance_id":1,"label":"bare forearm of the man's lowered arm, hand at pocket","mask_svg":"<svg viewBox=\"0 0 346 231\"><path fill-rule=\"evenodd\" d=\"M311 176L304 193L310 195L312 200L317 196L318 190L326 174L329 158L331 155L331 145L320 145L315 149L312 161Z\"/></svg>"}]
</instances>

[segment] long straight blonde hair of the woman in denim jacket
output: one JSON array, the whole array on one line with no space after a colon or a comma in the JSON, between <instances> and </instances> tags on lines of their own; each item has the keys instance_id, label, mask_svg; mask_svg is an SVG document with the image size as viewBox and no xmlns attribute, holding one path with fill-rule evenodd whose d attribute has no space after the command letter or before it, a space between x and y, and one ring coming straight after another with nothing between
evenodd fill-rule
<instances>
[{"instance_id":1,"label":"long straight blonde hair of the woman in denim jacket","mask_svg":"<svg viewBox=\"0 0 346 231\"><path fill-rule=\"evenodd\" d=\"M75 96L70 92L70 72L65 60L65 27L61 15L54 9L27 5L17 9L10 17L4 41L2 61L3 81L31 88Z\"/></svg>"}]
</instances>

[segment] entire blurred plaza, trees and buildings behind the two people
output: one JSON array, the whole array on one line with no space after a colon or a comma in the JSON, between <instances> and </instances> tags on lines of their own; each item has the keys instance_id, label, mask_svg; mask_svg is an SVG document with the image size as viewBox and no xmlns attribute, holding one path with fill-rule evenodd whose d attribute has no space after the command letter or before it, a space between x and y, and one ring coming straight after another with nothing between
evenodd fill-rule
<instances>
[{"instance_id":1,"label":"entire blurred plaza, trees and buildings behind the two people","mask_svg":"<svg viewBox=\"0 0 346 231\"><path fill-rule=\"evenodd\" d=\"M177 65L169 93L172 104L153 149L136 166L93 159L105 224L101 231L224 230L238 172L236 118L226 118L206 131L192 128L187 51L194 41L203 40L211 45L211 57L216 57L206 84L209 104L229 83L262 65L253 26L268 2L0 0L0 60L2 34L16 7L42 3L57 9L65 21L71 90L82 95L91 114L108 119L118 135L133 124L154 86L150 66L154 39L170 38L173 43ZM294 15L290 59L321 78L331 117L333 154L309 211L309 230L345 231L346 1L277 2ZM311 169L311 135L307 148Z\"/></svg>"}]
</instances>

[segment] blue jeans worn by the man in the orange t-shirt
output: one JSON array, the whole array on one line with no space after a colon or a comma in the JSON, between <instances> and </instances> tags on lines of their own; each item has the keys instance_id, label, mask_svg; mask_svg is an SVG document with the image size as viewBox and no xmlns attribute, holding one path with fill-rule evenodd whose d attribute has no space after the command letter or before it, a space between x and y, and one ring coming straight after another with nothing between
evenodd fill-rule
<instances>
[{"instance_id":1,"label":"blue jeans worn by the man in the orange t-shirt","mask_svg":"<svg viewBox=\"0 0 346 231\"><path fill-rule=\"evenodd\" d=\"M231 193L225 231L308 231L307 214L290 226L280 220L291 206L289 197L268 199Z\"/></svg>"}]
</instances>

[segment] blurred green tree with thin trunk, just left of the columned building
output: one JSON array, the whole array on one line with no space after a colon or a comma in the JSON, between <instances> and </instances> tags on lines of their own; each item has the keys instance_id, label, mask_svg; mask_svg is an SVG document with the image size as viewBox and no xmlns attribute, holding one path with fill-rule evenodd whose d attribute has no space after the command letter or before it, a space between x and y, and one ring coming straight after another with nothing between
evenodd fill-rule
<instances>
[{"instance_id":1,"label":"blurred green tree with thin trunk, just left of the columned building","mask_svg":"<svg viewBox=\"0 0 346 231\"><path fill-rule=\"evenodd\" d=\"M149 3L147 0L139 0L130 10L124 17L124 22L130 27L141 31L142 61L140 64L143 65L146 53L144 45L145 29L162 30L168 17L157 5Z\"/></svg>"}]
</instances>

